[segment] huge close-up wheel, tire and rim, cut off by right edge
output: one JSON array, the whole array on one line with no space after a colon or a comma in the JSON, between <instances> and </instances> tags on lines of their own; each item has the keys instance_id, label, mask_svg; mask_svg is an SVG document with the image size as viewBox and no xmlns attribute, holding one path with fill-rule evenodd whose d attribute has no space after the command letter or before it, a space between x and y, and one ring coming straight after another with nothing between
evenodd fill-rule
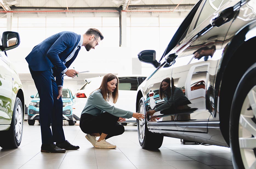
<instances>
[{"instance_id":1,"label":"huge close-up wheel, tire and rim, cut off by right edge","mask_svg":"<svg viewBox=\"0 0 256 169\"><path fill-rule=\"evenodd\" d=\"M231 106L229 141L235 169L256 168L256 63L241 78Z\"/></svg>"}]
</instances>

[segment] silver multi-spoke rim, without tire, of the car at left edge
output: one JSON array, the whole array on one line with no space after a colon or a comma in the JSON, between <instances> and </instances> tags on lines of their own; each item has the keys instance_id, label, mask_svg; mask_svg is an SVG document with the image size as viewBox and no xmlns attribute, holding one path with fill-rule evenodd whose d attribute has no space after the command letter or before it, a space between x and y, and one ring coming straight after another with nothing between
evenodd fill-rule
<instances>
[{"instance_id":1,"label":"silver multi-spoke rim, without tire, of the car at left edge","mask_svg":"<svg viewBox=\"0 0 256 169\"><path fill-rule=\"evenodd\" d=\"M22 109L21 106L18 105L15 110L15 137L17 141L21 139L22 134Z\"/></svg>"}]
</instances>

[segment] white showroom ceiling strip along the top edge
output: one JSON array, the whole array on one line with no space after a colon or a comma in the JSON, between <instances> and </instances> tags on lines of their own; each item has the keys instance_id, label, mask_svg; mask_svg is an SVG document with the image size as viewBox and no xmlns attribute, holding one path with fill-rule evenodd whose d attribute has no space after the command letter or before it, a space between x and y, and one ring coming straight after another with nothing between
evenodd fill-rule
<instances>
[{"instance_id":1,"label":"white showroom ceiling strip along the top edge","mask_svg":"<svg viewBox=\"0 0 256 169\"><path fill-rule=\"evenodd\" d=\"M27 9L62 9L74 10L74 8L96 9L104 7L120 7L122 10L131 11L138 9L191 9L198 0L0 0L1 10L25 10ZM135 6L138 5L138 6Z\"/></svg>"}]
</instances>

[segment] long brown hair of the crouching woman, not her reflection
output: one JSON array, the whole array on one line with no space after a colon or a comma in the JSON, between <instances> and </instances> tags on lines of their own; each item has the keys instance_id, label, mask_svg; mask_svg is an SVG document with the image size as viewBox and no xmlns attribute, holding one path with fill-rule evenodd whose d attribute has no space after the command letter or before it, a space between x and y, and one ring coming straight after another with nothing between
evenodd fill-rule
<instances>
[{"instance_id":1,"label":"long brown hair of the crouching woman, not her reflection","mask_svg":"<svg viewBox=\"0 0 256 169\"><path fill-rule=\"evenodd\" d=\"M111 80L114 80L114 79L117 80L117 85L116 85L114 92L110 92L107 89L107 82L110 82ZM118 82L119 82L118 77L112 73L106 74L103 77L101 85L98 89L101 89L101 94L103 95L104 100L112 101L113 103L116 103L116 101L118 99Z\"/></svg>"}]
</instances>

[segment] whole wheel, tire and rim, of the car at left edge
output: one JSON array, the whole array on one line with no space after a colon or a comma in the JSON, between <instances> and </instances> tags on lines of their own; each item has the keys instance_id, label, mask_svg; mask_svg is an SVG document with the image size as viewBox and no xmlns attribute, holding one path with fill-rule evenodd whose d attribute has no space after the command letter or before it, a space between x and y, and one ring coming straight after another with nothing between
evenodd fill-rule
<instances>
[{"instance_id":1,"label":"whole wheel, tire and rim, of the car at left edge","mask_svg":"<svg viewBox=\"0 0 256 169\"><path fill-rule=\"evenodd\" d=\"M0 146L5 149L17 148L21 144L23 134L24 112L21 100L16 97L12 121L9 130L0 131Z\"/></svg>"}]
</instances>

